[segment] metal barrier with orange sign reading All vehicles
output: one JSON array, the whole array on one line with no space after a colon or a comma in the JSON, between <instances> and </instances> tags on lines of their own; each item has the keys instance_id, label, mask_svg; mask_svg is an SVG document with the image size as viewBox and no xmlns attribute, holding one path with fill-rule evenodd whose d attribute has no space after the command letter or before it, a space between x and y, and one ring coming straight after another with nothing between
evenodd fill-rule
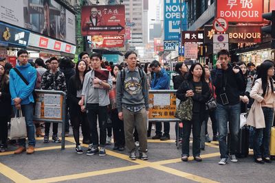
<instances>
[{"instance_id":1,"label":"metal barrier with orange sign reading All vehicles","mask_svg":"<svg viewBox=\"0 0 275 183\"><path fill-rule=\"evenodd\" d=\"M179 148L179 122L180 119L175 117L175 111L179 99L175 93L177 90L149 90L149 122L177 123L177 141Z\"/></svg>"}]
</instances>

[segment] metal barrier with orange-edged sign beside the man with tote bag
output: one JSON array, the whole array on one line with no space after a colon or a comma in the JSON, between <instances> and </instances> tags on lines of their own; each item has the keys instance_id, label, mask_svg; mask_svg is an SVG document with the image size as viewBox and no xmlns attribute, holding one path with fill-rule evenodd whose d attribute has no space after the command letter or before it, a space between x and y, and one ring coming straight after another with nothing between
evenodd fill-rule
<instances>
[{"instance_id":1,"label":"metal barrier with orange-edged sign beside the man with tote bag","mask_svg":"<svg viewBox=\"0 0 275 183\"><path fill-rule=\"evenodd\" d=\"M62 123L61 149L65 149L66 93L55 90L35 90L34 121Z\"/></svg>"}]
</instances>

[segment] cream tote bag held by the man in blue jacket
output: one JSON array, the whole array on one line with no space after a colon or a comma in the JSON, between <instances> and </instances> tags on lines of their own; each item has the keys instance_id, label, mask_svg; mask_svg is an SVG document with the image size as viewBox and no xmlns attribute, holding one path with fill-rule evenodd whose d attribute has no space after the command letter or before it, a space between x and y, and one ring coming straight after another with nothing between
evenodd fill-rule
<instances>
[{"instance_id":1,"label":"cream tote bag held by the man in blue jacket","mask_svg":"<svg viewBox=\"0 0 275 183\"><path fill-rule=\"evenodd\" d=\"M22 110L19 110L19 117L17 117L17 111L14 118L10 119L10 139L17 140L27 137L27 127L25 123L25 117L22 115Z\"/></svg>"}]
</instances>

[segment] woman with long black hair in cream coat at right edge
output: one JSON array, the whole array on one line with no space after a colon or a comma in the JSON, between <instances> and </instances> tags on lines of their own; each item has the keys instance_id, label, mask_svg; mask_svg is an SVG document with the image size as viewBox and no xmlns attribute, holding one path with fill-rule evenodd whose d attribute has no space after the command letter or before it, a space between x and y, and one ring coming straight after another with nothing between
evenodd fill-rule
<instances>
[{"instance_id":1,"label":"woman with long black hair in cream coat at right edge","mask_svg":"<svg viewBox=\"0 0 275 183\"><path fill-rule=\"evenodd\" d=\"M260 164L264 162L270 163L270 133L273 123L273 114L275 108L275 93L274 93L274 62L265 60L259 69L257 80L250 92L250 97L254 99L254 103L250 112L256 112L253 116L261 116L262 120L254 119L256 127L254 135L254 161ZM258 105L257 105L258 104ZM248 119L252 116L249 114ZM250 123L250 120L248 121ZM262 145L260 145L261 137L263 136Z\"/></svg>"}]
</instances>

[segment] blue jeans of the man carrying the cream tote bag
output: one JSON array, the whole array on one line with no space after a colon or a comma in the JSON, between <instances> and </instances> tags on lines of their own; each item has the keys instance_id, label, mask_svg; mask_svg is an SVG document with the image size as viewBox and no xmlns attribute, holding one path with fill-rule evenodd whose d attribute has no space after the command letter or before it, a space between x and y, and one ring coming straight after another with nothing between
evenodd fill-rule
<instances>
[{"instance_id":1,"label":"blue jeans of the man carrying the cream tote bag","mask_svg":"<svg viewBox=\"0 0 275 183\"><path fill-rule=\"evenodd\" d=\"M14 116L17 109L15 106L12 106ZM27 127L27 136L29 145L35 146L35 138L34 138L34 121L32 120L34 117L34 103L29 103L25 105L21 105L23 117L25 117L25 123ZM19 112L17 112L17 117L19 117ZM21 138L18 140L20 146L25 147L25 138Z\"/></svg>"}]
</instances>

